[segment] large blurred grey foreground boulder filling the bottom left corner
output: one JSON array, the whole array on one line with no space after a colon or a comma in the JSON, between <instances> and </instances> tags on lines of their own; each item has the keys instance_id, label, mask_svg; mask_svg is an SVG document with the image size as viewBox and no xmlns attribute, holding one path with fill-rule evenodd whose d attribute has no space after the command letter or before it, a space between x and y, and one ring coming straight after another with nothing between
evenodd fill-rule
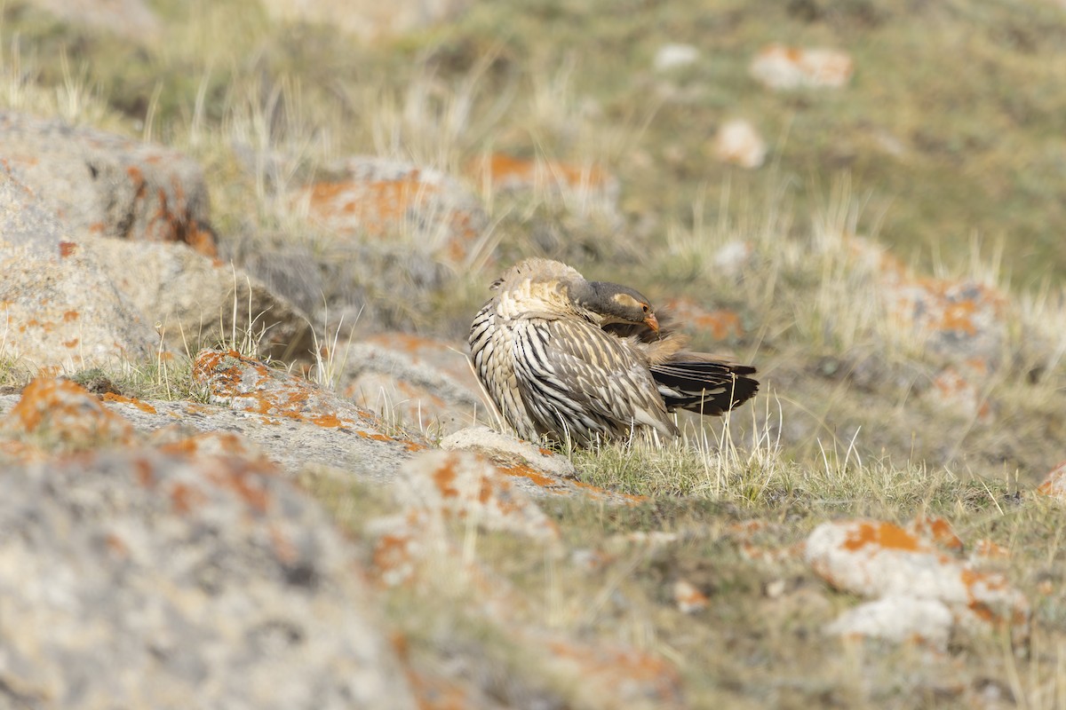
<instances>
[{"instance_id":1,"label":"large blurred grey foreground boulder filling the bottom left corner","mask_svg":"<svg viewBox=\"0 0 1066 710\"><path fill-rule=\"evenodd\" d=\"M358 556L272 466L133 448L2 476L21 704L416 707Z\"/></svg>"}]
</instances>

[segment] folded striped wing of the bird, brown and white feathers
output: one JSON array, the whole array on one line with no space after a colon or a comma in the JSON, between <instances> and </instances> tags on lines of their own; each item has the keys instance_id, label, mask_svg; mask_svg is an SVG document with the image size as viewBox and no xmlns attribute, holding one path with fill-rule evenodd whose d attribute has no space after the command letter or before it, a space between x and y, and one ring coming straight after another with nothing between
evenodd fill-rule
<instances>
[{"instance_id":1,"label":"folded striped wing of the bird, brown and white feathers","mask_svg":"<svg viewBox=\"0 0 1066 710\"><path fill-rule=\"evenodd\" d=\"M548 430L624 433L634 424L676 434L647 361L628 341L579 318L531 318L515 331L522 399Z\"/></svg>"}]
</instances>

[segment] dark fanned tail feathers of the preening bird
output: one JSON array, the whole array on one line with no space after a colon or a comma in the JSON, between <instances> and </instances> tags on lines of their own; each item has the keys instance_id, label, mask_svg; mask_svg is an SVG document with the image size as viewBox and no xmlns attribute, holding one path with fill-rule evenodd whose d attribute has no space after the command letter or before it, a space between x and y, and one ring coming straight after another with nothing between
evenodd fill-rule
<instances>
[{"instance_id":1,"label":"dark fanned tail feathers of the preening bird","mask_svg":"<svg viewBox=\"0 0 1066 710\"><path fill-rule=\"evenodd\" d=\"M651 367L666 409L714 416L755 396L759 382L745 377L755 367L722 362L667 362Z\"/></svg>"}]
</instances>

